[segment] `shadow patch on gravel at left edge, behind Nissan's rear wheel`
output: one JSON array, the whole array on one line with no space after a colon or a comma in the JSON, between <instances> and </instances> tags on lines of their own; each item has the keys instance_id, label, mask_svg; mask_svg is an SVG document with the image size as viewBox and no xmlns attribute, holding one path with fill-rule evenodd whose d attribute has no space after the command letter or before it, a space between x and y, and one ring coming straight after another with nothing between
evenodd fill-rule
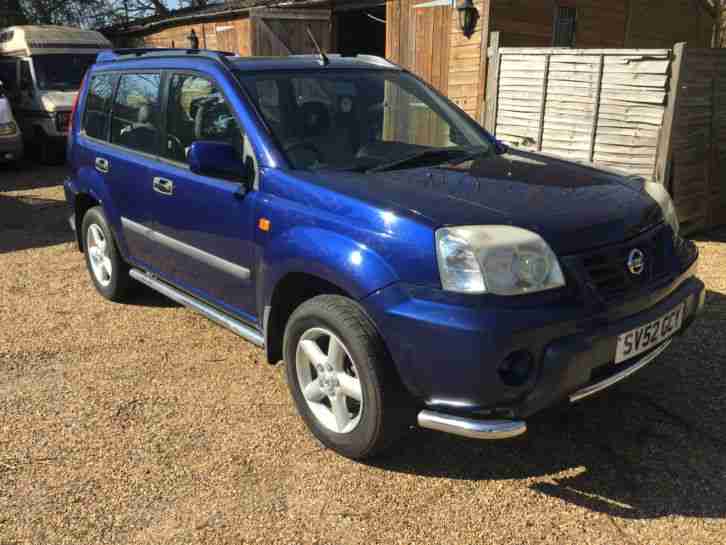
<instances>
[{"instance_id":1,"label":"shadow patch on gravel at left edge, behind Nissan's rear wheel","mask_svg":"<svg viewBox=\"0 0 726 545\"><path fill-rule=\"evenodd\" d=\"M0 193L0 254L74 240L65 201Z\"/></svg>"}]
</instances>

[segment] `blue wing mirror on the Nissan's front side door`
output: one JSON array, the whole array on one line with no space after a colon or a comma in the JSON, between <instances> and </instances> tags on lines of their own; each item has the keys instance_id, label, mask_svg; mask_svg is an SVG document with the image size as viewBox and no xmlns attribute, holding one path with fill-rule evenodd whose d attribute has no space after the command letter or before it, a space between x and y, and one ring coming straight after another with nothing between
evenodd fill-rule
<instances>
[{"instance_id":1,"label":"blue wing mirror on the Nissan's front side door","mask_svg":"<svg viewBox=\"0 0 726 545\"><path fill-rule=\"evenodd\" d=\"M254 180L254 167L242 161L232 144L198 140L189 148L189 168L194 174L239 182L246 193Z\"/></svg>"}]
</instances>

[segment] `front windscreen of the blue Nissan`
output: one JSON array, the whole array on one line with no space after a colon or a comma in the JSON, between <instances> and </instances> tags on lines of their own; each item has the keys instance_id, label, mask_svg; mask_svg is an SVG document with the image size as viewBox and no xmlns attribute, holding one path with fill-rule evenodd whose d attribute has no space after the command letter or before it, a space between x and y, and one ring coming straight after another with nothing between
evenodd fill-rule
<instances>
[{"instance_id":1,"label":"front windscreen of the blue Nissan","mask_svg":"<svg viewBox=\"0 0 726 545\"><path fill-rule=\"evenodd\" d=\"M238 72L293 168L371 170L450 148L491 149L475 123L393 70Z\"/></svg>"}]
</instances>

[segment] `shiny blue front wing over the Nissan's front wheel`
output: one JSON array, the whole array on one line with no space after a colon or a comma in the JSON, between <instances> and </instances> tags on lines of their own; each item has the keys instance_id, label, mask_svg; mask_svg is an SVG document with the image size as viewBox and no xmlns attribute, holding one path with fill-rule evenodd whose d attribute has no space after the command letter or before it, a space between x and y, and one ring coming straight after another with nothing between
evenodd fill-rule
<instances>
[{"instance_id":1,"label":"shiny blue front wing over the Nissan's front wheel","mask_svg":"<svg viewBox=\"0 0 726 545\"><path fill-rule=\"evenodd\" d=\"M290 273L316 276L358 300L398 280L393 268L371 248L320 227L292 227L263 248L260 309L270 304L275 286Z\"/></svg>"}]
</instances>

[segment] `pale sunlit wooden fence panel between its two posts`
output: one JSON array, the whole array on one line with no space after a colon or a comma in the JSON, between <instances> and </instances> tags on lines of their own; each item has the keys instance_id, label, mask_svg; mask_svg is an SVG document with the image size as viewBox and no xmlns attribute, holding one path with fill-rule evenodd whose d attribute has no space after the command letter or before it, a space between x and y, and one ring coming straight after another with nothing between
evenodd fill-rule
<instances>
[{"instance_id":1,"label":"pale sunlit wooden fence panel between its two posts","mask_svg":"<svg viewBox=\"0 0 726 545\"><path fill-rule=\"evenodd\" d=\"M490 57L487 128L499 139L653 177L668 50L496 47Z\"/></svg>"}]
</instances>

